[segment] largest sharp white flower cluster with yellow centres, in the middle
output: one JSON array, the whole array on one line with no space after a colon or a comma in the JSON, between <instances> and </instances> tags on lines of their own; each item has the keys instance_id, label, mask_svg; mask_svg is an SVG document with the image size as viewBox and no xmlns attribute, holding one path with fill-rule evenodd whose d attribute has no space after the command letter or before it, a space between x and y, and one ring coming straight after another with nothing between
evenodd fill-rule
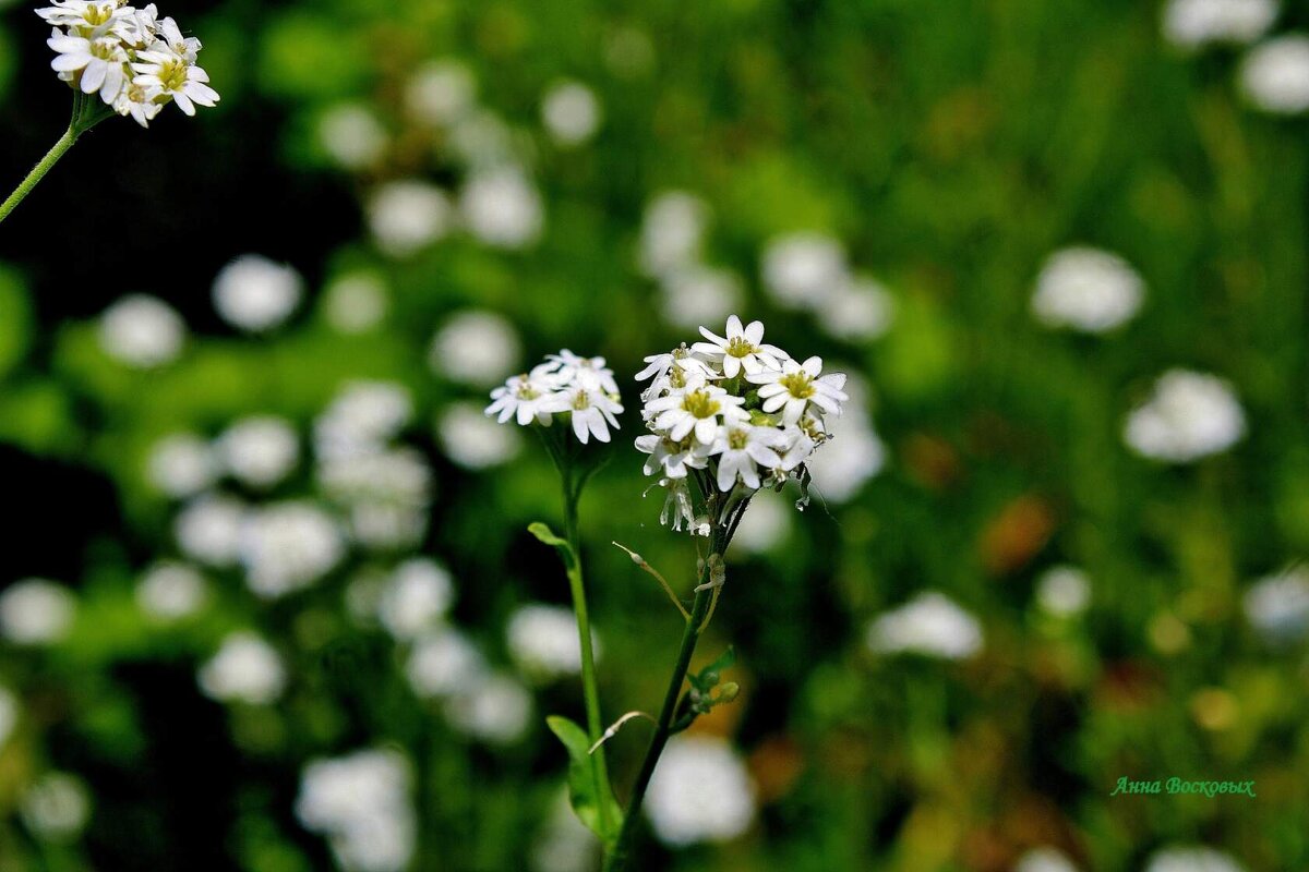
<instances>
[{"instance_id":1,"label":"largest sharp white flower cluster with yellow centres, in the middle","mask_svg":"<svg viewBox=\"0 0 1309 872\"><path fill-rule=\"evenodd\" d=\"M636 374L651 379L641 392L651 433L636 447L649 455L645 475L668 489L660 520L708 535L713 523L729 524L732 501L713 499L716 492L747 498L792 477L806 481L805 463L829 439L827 416L850 397L844 375L822 374L822 358L801 362L764 344L761 322L742 326L732 315L725 336L700 333L706 341L647 357ZM706 506L720 505L717 518L695 511L692 480Z\"/></svg>"}]
</instances>

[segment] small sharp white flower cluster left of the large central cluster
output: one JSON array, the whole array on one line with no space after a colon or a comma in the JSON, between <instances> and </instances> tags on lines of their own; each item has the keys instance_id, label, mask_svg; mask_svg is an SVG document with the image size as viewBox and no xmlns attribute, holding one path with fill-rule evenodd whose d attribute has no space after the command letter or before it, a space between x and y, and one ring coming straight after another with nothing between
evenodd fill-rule
<instances>
[{"instance_id":1,"label":"small sharp white flower cluster left of the large central cluster","mask_svg":"<svg viewBox=\"0 0 1309 872\"><path fill-rule=\"evenodd\" d=\"M579 357L568 349L550 354L529 373L514 375L491 391L488 416L500 424L511 418L521 426L533 421L550 426L556 414L568 416L573 434L586 444L592 437L609 442L623 412L614 371L603 357Z\"/></svg>"}]
</instances>

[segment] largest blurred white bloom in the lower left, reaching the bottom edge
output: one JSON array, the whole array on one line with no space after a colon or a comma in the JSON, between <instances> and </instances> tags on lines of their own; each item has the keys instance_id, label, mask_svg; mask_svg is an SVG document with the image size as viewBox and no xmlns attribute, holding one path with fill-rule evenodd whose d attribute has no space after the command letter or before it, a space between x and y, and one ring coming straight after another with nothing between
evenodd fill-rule
<instances>
[{"instance_id":1,"label":"largest blurred white bloom in the lower left, reaching the bottom edge","mask_svg":"<svg viewBox=\"0 0 1309 872\"><path fill-rule=\"evenodd\" d=\"M322 833L346 872L403 872L418 841L408 762L394 750L359 750L305 767L296 817Z\"/></svg>"}]
</instances>

